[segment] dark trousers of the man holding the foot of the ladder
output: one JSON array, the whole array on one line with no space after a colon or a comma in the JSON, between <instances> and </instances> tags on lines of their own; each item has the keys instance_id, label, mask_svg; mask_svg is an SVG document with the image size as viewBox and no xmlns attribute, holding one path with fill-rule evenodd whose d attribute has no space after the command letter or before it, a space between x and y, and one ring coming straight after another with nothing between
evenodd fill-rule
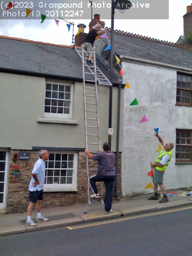
<instances>
[{"instance_id":1,"label":"dark trousers of the man holding the foot of the ladder","mask_svg":"<svg viewBox=\"0 0 192 256\"><path fill-rule=\"evenodd\" d=\"M110 212L111 205L112 205L112 199L113 199L113 184L115 181L114 175L108 175L104 176L99 173L97 173L94 176L91 176L89 179L91 189L94 191L94 193L98 193L98 189L96 187L96 182L103 181L106 188L106 194L105 194L105 211Z\"/></svg>"}]
</instances>

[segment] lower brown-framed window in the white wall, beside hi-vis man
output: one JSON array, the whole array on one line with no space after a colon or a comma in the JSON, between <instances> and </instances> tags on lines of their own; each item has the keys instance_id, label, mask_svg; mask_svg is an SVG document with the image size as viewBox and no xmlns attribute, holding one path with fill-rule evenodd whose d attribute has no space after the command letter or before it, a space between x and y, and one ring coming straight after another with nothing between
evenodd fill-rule
<instances>
[{"instance_id":1,"label":"lower brown-framed window in the white wall, beside hi-vis man","mask_svg":"<svg viewBox=\"0 0 192 256\"><path fill-rule=\"evenodd\" d=\"M176 162L192 162L192 130L176 130Z\"/></svg>"}]
</instances>

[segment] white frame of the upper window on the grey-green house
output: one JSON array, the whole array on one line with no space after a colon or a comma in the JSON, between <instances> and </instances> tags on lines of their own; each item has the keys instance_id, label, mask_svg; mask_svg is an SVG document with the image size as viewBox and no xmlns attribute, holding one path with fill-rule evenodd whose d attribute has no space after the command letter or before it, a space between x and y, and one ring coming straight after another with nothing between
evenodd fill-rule
<instances>
[{"instance_id":1,"label":"white frame of the upper window on the grey-green house","mask_svg":"<svg viewBox=\"0 0 192 256\"><path fill-rule=\"evenodd\" d=\"M70 104L69 104L69 114L58 114L58 113L47 113L45 112L45 100L53 100L52 98L46 98L46 84L58 84L58 85L68 85L71 87L70 91ZM72 118L72 113L73 113L73 87L74 84L65 82L65 81L58 81L58 80L46 80L45 81L45 93L44 93L44 104L43 104L43 116L45 117L62 117L62 118ZM53 91L53 90L52 90ZM59 99L55 99L59 100ZM63 100L64 101L64 100Z\"/></svg>"}]
</instances>

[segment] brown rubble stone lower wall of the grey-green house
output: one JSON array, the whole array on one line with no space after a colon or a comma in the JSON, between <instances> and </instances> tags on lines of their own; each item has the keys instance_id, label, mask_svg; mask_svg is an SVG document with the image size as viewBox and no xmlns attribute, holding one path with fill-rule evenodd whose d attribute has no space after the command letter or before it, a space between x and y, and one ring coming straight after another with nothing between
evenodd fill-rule
<instances>
[{"instance_id":1,"label":"brown rubble stone lower wall of the grey-green house","mask_svg":"<svg viewBox=\"0 0 192 256\"><path fill-rule=\"evenodd\" d=\"M31 179L31 171L33 165L38 159L38 151L25 150L30 153L30 160L16 160L13 161L14 154L18 154L19 150L11 150L9 161L9 175L8 175L8 192L7 192L7 212L27 212L27 205L29 199L28 185ZM44 192L42 208L49 208L55 206L67 206L74 203L87 202L87 177L86 177L86 157L85 154L79 152L78 156L78 191L77 192ZM14 176L11 170L13 165L20 165L21 175ZM93 169L97 168L97 164L93 164ZM96 171L91 171L90 175L95 174ZM98 183L98 188L100 184ZM118 196L122 195L121 185L121 153L119 154L118 162ZM104 189L105 192L105 189ZM92 193L90 189L90 193ZM100 189L99 189L99 193Z\"/></svg>"}]
</instances>

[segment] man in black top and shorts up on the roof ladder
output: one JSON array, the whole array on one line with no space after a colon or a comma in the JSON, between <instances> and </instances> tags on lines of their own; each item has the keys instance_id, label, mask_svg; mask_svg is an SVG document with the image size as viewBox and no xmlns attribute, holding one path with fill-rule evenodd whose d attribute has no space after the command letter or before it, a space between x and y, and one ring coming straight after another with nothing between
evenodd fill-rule
<instances>
[{"instance_id":1,"label":"man in black top and shorts up on the roof ladder","mask_svg":"<svg viewBox=\"0 0 192 256\"><path fill-rule=\"evenodd\" d=\"M96 36L100 35L100 34L104 34L105 30L100 30L101 29L101 25L99 23L97 23L95 26L93 26L93 29L91 31L89 31L89 33L87 34L83 45L85 46L85 50L87 52L93 52L93 44L96 40ZM92 58L93 55L89 54L88 60L87 60L87 64L88 65L92 65Z\"/></svg>"}]
</instances>

